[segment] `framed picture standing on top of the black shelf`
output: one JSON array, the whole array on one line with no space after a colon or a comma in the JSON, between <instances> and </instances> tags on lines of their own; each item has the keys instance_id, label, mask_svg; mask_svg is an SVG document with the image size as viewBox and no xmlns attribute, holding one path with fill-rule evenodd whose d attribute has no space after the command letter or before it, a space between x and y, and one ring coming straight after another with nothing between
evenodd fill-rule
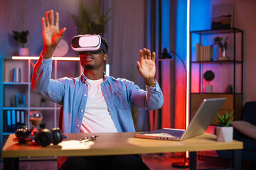
<instances>
[{"instance_id":1,"label":"framed picture standing on top of the black shelf","mask_svg":"<svg viewBox=\"0 0 256 170\"><path fill-rule=\"evenodd\" d=\"M220 30L233 27L233 4L213 5L211 29Z\"/></svg>"}]
</instances>

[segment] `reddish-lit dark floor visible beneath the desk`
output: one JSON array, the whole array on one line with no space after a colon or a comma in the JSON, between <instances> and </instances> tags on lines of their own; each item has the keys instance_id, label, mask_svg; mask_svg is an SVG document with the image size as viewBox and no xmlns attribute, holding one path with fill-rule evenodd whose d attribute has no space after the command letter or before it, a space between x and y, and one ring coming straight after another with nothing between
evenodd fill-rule
<instances>
[{"instance_id":1,"label":"reddish-lit dark floor visible beneath the desk","mask_svg":"<svg viewBox=\"0 0 256 170\"><path fill-rule=\"evenodd\" d=\"M151 170L182 170L172 166L174 162L183 162L181 155L173 154L143 154L144 162ZM250 170L251 162L242 162L242 170ZM0 170L3 170L3 162L0 163ZM199 157L197 169L222 169L228 168L229 161L215 157ZM57 170L57 162L55 160L45 161L21 161L20 170ZM186 169L185 169L186 170Z\"/></svg>"}]
</instances>

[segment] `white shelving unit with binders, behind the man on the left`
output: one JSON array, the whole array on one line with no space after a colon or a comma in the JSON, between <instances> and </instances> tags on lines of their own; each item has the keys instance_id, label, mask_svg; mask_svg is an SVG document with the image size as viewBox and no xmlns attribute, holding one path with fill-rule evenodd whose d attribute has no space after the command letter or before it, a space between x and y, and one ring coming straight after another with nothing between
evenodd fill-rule
<instances>
[{"instance_id":1,"label":"white shelving unit with binders, behind the man on the left","mask_svg":"<svg viewBox=\"0 0 256 170\"><path fill-rule=\"evenodd\" d=\"M43 114L41 123L45 123L48 129L58 127L58 118L60 105L46 100L46 106L41 107L41 96L35 94L31 90L31 77L33 74L33 64L36 63L38 57L13 57L15 60L3 60L3 82L2 96L3 106L1 107L1 119L4 122L4 113L8 110L25 111L25 125L31 128L28 121L28 113L31 111L40 111ZM68 67L67 67L68 64ZM12 82L13 68L21 68L21 82ZM58 72L57 72L58 70ZM58 79L60 77L78 77L81 73L79 64L79 57L53 57L53 71L52 78ZM17 93L25 94L25 107L16 107L14 98ZM4 123L1 123L1 147L3 147L6 138L14 132L5 132Z\"/></svg>"}]
</instances>

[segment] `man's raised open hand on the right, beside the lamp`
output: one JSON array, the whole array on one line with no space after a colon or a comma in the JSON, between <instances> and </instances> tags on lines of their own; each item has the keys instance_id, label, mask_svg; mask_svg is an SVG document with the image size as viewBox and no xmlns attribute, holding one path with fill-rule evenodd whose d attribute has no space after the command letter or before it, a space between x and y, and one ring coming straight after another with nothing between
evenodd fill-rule
<instances>
[{"instance_id":1,"label":"man's raised open hand on the right, beside the lamp","mask_svg":"<svg viewBox=\"0 0 256 170\"><path fill-rule=\"evenodd\" d=\"M156 76L156 52L151 52L144 48L144 52L139 50L140 60L137 62L137 69L139 74L142 75L146 85L151 86L155 83Z\"/></svg>"}]
</instances>

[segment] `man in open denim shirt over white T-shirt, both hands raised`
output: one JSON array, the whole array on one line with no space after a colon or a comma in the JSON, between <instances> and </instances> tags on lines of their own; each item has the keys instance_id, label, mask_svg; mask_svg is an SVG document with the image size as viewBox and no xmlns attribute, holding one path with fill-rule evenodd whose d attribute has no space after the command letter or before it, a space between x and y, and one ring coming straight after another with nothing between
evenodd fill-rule
<instances>
[{"instance_id":1,"label":"man in open denim shirt over white T-shirt, both hands raised","mask_svg":"<svg viewBox=\"0 0 256 170\"><path fill-rule=\"evenodd\" d=\"M54 21L55 20L55 21ZM59 30L59 15L53 10L42 18L44 47L35 65L33 91L63 105L63 132L134 132L131 106L155 110L163 104L156 82L155 52L139 50L139 73L146 91L127 79L114 79L104 73L107 41L102 38L100 52L80 52L84 72L80 77L50 79L51 58L66 28ZM148 169L138 155L108 157L69 157L60 169Z\"/></svg>"}]
</instances>

